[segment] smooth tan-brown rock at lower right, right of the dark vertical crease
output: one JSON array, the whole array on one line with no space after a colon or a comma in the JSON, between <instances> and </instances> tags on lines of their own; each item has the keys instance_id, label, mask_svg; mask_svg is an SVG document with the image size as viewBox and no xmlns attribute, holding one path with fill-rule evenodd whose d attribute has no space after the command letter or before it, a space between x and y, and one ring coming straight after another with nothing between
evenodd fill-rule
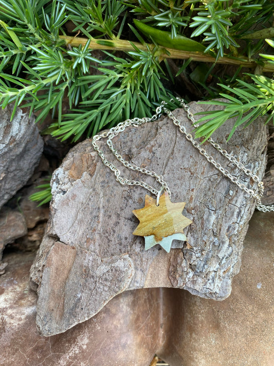
<instances>
[{"instance_id":1,"label":"smooth tan-brown rock at lower right, right of the dark vertical crease","mask_svg":"<svg viewBox=\"0 0 274 366\"><path fill-rule=\"evenodd\" d=\"M254 213L228 299L214 302L166 289L166 340L158 356L172 366L274 364L273 222L274 213Z\"/></svg>"}]
</instances>

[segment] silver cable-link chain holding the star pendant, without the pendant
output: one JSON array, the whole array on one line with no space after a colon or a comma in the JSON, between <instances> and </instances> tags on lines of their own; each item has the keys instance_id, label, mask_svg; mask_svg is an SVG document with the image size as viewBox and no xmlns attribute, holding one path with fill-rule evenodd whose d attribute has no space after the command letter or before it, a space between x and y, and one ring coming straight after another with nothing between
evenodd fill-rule
<instances>
[{"instance_id":1,"label":"silver cable-link chain holding the star pendant, without the pendant","mask_svg":"<svg viewBox=\"0 0 274 366\"><path fill-rule=\"evenodd\" d=\"M196 125L197 121L195 120L193 114L190 112L189 106L182 99L180 99L180 98L177 98L177 99L180 102L180 106L182 108L184 108L185 112L187 113L187 117L192 121L194 127L197 127L197 125ZM168 187L168 184L163 180L162 175L158 175L153 170L148 170L145 168L138 167L137 165L124 160L123 157L121 156L121 154L119 154L119 152L114 148L113 143L112 143L112 139L115 136L117 136L120 132L123 132L126 129L126 127L129 127L129 126L138 127L145 123L155 121L156 119L158 119L161 116L162 112L164 112L172 119L173 124L176 127L178 127L181 134L184 135L186 137L186 139L191 142L191 144L194 146L194 148L197 149L201 155L205 156L205 158L208 162L210 162L212 165L214 165L214 167L217 170L219 170L223 174L223 176L227 177L231 182L235 183L240 189L244 190L246 193L248 193L249 195L251 195L252 197L255 198L257 210L262 211L262 212L274 211L274 205L266 206L266 205L263 205L261 202L261 198L262 198L263 191L264 191L264 185L263 185L263 182L260 181L258 176L253 174L252 171L250 169L247 169L241 162L238 162L238 160L235 158L235 156L229 154L225 149L223 149L220 145L218 145L215 141L213 141L211 137L208 138L208 142L216 150L218 150L223 156L225 156L227 158L227 160L229 160L236 167L238 167L241 171L243 171L246 176L252 178L253 182L257 183L257 188L254 190L254 189L248 188L245 184L241 183L238 178L231 175L231 173L227 169L223 168L221 164L217 163L213 159L213 157L206 152L206 150L204 148L200 147L199 143L194 140L193 136L190 133L187 133L186 128L180 124L180 121L172 114L172 112L169 109L167 109L165 107L166 104L167 103L165 101L162 101L160 106L156 108L156 114L154 116L152 116L151 118L143 117L143 118L126 119L125 121L119 123L117 126L112 127L110 130L104 131L93 137L92 144L93 144L94 149L98 152L98 155L102 159L103 164L114 172L116 180L121 185L125 185L125 184L139 185L139 186L149 190L153 195L157 196L157 201L159 199L159 192L162 190L166 190L168 192L169 196L171 197L171 191ZM143 181L135 181L135 180L129 180L126 178L122 178L120 176L120 173L121 173L120 170L113 163L109 162L105 158L103 151L100 150L97 142L101 138L107 138L107 141L106 141L107 146L112 151L115 158L123 166L125 166L126 168L129 168L131 170L134 170L134 171L139 171L139 172L143 173L144 175L148 175L148 176L155 178L156 182L158 182L161 185L160 190L150 186L149 184L147 184Z\"/></svg>"}]
</instances>

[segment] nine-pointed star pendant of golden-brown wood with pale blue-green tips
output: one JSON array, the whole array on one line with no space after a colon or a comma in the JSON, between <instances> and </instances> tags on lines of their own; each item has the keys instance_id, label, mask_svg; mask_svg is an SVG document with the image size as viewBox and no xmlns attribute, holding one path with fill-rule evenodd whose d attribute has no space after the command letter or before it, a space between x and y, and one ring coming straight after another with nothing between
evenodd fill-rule
<instances>
[{"instance_id":1,"label":"nine-pointed star pendant of golden-brown wood with pale blue-green tips","mask_svg":"<svg viewBox=\"0 0 274 366\"><path fill-rule=\"evenodd\" d=\"M167 192L160 196L158 206L156 199L145 195L144 207L133 210L140 221L133 234L144 236L145 250L159 244L169 253L172 240L187 241L183 229L192 221L182 215L185 205L186 202L172 203Z\"/></svg>"}]
</instances>

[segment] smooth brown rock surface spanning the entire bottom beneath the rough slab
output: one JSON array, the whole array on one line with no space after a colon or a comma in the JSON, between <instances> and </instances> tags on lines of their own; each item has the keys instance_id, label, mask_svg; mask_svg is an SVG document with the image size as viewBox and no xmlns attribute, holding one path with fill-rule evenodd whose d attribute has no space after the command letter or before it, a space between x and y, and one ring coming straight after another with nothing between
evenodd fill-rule
<instances>
[{"instance_id":1,"label":"smooth brown rock surface spanning the entire bottom beneath the rough slab","mask_svg":"<svg viewBox=\"0 0 274 366\"><path fill-rule=\"evenodd\" d=\"M63 334L35 327L37 295L28 286L33 253L5 255L0 277L1 366L148 366L156 353L171 366L272 366L274 213L255 212L242 269L228 299L188 291L125 291Z\"/></svg>"}]
</instances>

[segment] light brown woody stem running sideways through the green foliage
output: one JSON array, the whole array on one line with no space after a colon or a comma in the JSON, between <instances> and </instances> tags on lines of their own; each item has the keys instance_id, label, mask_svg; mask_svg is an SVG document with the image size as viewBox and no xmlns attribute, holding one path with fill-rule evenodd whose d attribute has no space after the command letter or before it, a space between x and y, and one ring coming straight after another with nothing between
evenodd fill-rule
<instances>
[{"instance_id":1,"label":"light brown woody stem running sideways through the green foliage","mask_svg":"<svg viewBox=\"0 0 274 366\"><path fill-rule=\"evenodd\" d=\"M78 38L78 37L69 37L69 36L59 36L61 40L64 40L66 45L70 45L72 47L77 47L80 44L85 45L87 42L86 38ZM155 48L153 44L143 45L138 42L129 42L125 40L110 40L102 42L101 40L92 39L89 44L89 48L92 49L107 49L107 50L120 50L120 51L135 51L133 44L141 50L147 50L147 46L152 50ZM243 58L235 58L235 57L220 57L216 60L214 57L204 54L202 52L190 52L190 51L181 51L173 48L163 48L160 47L159 57L160 59L170 58L170 59L189 59L191 58L193 61L200 62L212 62L212 63L222 63L228 65L242 65L244 67L255 68L258 66L258 63L255 60ZM265 63L262 68L263 72L274 72L274 65Z\"/></svg>"}]
</instances>

